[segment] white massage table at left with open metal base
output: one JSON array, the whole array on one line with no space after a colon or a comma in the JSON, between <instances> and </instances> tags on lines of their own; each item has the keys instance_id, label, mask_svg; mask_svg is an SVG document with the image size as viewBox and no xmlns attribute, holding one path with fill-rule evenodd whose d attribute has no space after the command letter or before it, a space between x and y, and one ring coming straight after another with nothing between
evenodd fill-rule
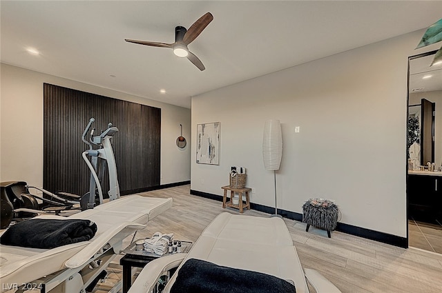
<instances>
[{"instance_id":1,"label":"white massage table at left with open metal base","mask_svg":"<svg viewBox=\"0 0 442 293\"><path fill-rule=\"evenodd\" d=\"M50 250L0 245L1 292L40 283L45 284L46 292L54 288L54 292L80 292L119 254L127 236L145 228L150 219L171 206L172 199L130 195L68 217L33 218L88 219L97 224L97 232L90 241Z\"/></svg>"}]
</instances>

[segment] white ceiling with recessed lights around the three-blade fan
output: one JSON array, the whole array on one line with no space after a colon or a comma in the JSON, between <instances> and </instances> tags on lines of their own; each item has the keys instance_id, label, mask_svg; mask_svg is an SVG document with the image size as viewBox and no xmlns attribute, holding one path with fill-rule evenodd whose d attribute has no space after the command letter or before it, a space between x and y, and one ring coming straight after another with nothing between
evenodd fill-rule
<instances>
[{"instance_id":1,"label":"white ceiling with recessed lights around the three-blade fan","mask_svg":"<svg viewBox=\"0 0 442 293\"><path fill-rule=\"evenodd\" d=\"M192 96L427 28L442 1L1 0L0 10L2 63L190 108ZM175 26L206 12L213 21L189 45L202 72L124 41L173 43Z\"/></svg>"}]
</instances>

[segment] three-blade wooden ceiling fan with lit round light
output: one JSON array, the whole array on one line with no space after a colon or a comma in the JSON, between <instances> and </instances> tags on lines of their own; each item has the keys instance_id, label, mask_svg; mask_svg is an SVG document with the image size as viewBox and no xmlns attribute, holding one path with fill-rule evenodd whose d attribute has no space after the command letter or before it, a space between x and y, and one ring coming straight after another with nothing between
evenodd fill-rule
<instances>
[{"instance_id":1,"label":"three-blade wooden ceiling fan with lit round light","mask_svg":"<svg viewBox=\"0 0 442 293\"><path fill-rule=\"evenodd\" d=\"M213 20L213 15L210 12L204 14L200 19L195 21L193 25L186 30L186 28L182 26L177 26L175 28L175 43L157 43L151 41L137 41L131 39L125 39L125 41L129 43L138 43L140 45L153 46L153 47L161 47L161 48L171 48L173 49L173 53L178 57L187 57L196 67L198 67L201 71L206 69L202 64L201 60L195 56L192 52L189 51L187 46L193 40L200 35L202 30L209 25L209 23Z\"/></svg>"}]
</instances>

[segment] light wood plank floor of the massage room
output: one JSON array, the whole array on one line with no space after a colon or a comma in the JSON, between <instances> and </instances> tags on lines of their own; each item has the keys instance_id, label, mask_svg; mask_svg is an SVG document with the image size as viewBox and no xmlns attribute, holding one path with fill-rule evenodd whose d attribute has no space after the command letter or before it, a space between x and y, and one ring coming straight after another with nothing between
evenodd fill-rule
<instances>
[{"instance_id":1,"label":"light wood plank floor of the massage room","mask_svg":"<svg viewBox=\"0 0 442 293\"><path fill-rule=\"evenodd\" d=\"M149 221L137 239L160 231L173 232L175 239L196 241L220 212L239 213L233 208L223 209L220 201L191 195L189 185L142 195L172 197L173 207ZM244 214L269 216L255 210L245 210ZM442 292L442 254L403 249L342 232L332 232L329 239L325 231L310 228L305 232L304 223L284 220L302 266L318 270L343 293Z\"/></svg>"}]
</instances>

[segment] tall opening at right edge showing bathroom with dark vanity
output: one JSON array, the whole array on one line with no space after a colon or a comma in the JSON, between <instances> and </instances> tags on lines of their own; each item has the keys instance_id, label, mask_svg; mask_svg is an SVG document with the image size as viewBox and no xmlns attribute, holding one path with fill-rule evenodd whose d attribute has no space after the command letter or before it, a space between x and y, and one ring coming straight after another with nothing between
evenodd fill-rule
<instances>
[{"instance_id":1,"label":"tall opening at right edge showing bathroom with dark vanity","mask_svg":"<svg viewBox=\"0 0 442 293\"><path fill-rule=\"evenodd\" d=\"M442 63L410 57L407 91L408 244L442 254Z\"/></svg>"}]
</instances>

